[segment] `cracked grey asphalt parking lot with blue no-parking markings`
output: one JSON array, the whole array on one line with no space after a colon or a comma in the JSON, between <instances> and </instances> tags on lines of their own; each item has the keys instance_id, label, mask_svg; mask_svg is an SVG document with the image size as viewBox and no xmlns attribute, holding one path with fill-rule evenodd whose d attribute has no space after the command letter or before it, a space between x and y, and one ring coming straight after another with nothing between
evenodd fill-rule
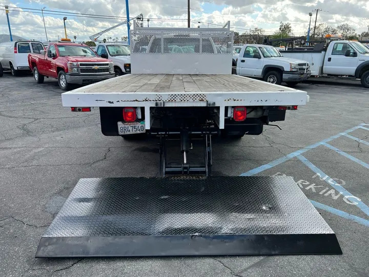
<instances>
[{"instance_id":1,"label":"cracked grey asphalt parking lot with blue no-parking markings","mask_svg":"<svg viewBox=\"0 0 369 277\"><path fill-rule=\"evenodd\" d=\"M0 276L369 276L369 90L308 82L310 103L262 135L214 143L217 175L290 175L342 255L35 259L80 178L156 176L156 141L100 132L98 110L61 106L55 80L0 78Z\"/></svg>"}]
</instances>

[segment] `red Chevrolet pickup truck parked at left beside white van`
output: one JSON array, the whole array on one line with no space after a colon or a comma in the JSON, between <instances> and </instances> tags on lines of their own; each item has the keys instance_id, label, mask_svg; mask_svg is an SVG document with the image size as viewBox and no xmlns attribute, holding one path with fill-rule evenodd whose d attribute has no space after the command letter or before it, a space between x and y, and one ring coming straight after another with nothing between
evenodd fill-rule
<instances>
[{"instance_id":1,"label":"red Chevrolet pickup truck parked at left beside white van","mask_svg":"<svg viewBox=\"0 0 369 277\"><path fill-rule=\"evenodd\" d=\"M77 43L50 43L42 54L29 54L28 64L37 84L44 77L57 78L59 87L99 82L114 77L114 64L99 57L90 47Z\"/></svg>"}]
</instances>

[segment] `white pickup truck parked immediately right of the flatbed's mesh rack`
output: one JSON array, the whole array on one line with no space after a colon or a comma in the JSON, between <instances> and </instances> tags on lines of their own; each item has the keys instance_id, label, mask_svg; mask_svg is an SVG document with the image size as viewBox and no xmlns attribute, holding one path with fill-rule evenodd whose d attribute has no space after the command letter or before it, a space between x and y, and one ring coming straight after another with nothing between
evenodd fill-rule
<instances>
[{"instance_id":1,"label":"white pickup truck parked immediately right of the flatbed's mesh rack","mask_svg":"<svg viewBox=\"0 0 369 277\"><path fill-rule=\"evenodd\" d=\"M273 46L246 44L239 52L237 75L262 78L265 82L293 86L310 77L310 65L304 60L283 57Z\"/></svg>"}]
</instances>

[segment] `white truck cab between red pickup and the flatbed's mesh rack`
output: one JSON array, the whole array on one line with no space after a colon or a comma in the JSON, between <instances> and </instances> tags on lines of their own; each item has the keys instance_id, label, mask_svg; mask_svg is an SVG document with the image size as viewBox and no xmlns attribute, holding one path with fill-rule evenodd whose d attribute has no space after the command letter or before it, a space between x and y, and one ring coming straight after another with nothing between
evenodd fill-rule
<instances>
[{"instance_id":1,"label":"white truck cab between red pickup and the flatbed's mesh rack","mask_svg":"<svg viewBox=\"0 0 369 277\"><path fill-rule=\"evenodd\" d=\"M131 50L125 43L99 43L95 52L114 63L115 76L131 73Z\"/></svg>"}]
</instances>

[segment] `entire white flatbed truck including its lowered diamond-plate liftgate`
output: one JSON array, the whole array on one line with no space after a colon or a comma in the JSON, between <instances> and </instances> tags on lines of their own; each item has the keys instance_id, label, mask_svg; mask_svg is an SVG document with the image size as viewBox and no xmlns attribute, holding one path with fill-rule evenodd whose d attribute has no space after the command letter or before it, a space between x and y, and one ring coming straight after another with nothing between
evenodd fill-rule
<instances>
[{"instance_id":1,"label":"entire white flatbed truck including its lowered diamond-plate liftgate","mask_svg":"<svg viewBox=\"0 0 369 277\"><path fill-rule=\"evenodd\" d=\"M211 176L219 133L260 134L308 101L304 91L231 75L225 27L134 28L132 74L62 94L74 111L99 107L105 135L158 138L161 176L80 179L37 258L342 253L292 177ZM175 142L178 151L167 151Z\"/></svg>"}]
</instances>

